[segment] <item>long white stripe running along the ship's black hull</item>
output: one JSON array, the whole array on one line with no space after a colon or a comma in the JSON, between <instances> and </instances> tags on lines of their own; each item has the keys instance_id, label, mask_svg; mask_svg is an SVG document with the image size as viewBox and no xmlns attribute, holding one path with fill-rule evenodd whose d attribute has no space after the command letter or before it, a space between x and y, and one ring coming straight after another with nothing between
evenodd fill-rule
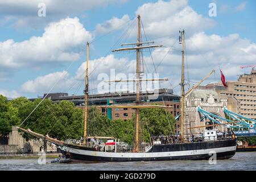
<instances>
[{"instance_id":1,"label":"long white stripe running along the ship's black hull","mask_svg":"<svg viewBox=\"0 0 256 182\"><path fill-rule=\"evenodd\" d=\"M80 150L64 146L65 151L69 151L73 154L89 155L96 157L105 158L161 158L161 157L174 157L174 156L185 156L185 155L203 155L209 154L212 151L216 153L236 151L236 146L231 147L220 147L220 148L209 148L202 150L187 150L187 151L171 151L171 152L148 152L148 153L120 153L120 152L99 152L99 151L88 151Z\"/></svg>"}]
</instances>

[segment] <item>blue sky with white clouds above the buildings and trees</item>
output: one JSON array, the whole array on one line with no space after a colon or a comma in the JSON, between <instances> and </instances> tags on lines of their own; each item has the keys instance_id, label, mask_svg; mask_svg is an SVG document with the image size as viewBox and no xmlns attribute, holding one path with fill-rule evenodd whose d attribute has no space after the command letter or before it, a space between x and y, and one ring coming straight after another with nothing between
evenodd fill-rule
<instances>
[{"instance_id":1,"label":"blue sky with white clouds above the buildings and trees","mask_svg":"<svg viewBox=\"0 0 256 182\"><path fill-rule=\"evenodd\" d=\"M209 15L210 3L217 7L216 16ZM163 46L144 50L141 67L147 77L158 73L170 79L160 87L179 94L182 29L186 82L192 85L212 69L216 73L204 84L219 81L218 67L226 80L234 81L250 72L241 65L256 64L255 10L253 0L0 0L0 94L9 98L35 98L50 90L82 94L86 42L90 93L102 92L98 90L102 78L126 79L135 72L135 52L111 50L137 41L138 14L143 41Z\"/></svg>"}]
</instances>

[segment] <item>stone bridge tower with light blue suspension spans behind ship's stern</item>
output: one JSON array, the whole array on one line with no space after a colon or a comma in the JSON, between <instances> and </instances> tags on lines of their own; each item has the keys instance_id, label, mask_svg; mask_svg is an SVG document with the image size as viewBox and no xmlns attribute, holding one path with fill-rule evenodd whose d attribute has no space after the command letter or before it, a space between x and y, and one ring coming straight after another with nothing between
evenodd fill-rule
<instances>
[{"instance_id":1,"label":"stone bridge tower with light blue suspension spans behind ship's stern","mask_svg":"<svg viewBox=\"0 0 256 182\"><path fill-rule=\"evenodd\" d=\"M199 137L205 129L221 132L228 129L237 137L256 136L256 120L227 109L227 100L213 90L194 90L185 102L185 138ZM176 117L178 118L178 116Z\"/></svg>"}]
</instances>

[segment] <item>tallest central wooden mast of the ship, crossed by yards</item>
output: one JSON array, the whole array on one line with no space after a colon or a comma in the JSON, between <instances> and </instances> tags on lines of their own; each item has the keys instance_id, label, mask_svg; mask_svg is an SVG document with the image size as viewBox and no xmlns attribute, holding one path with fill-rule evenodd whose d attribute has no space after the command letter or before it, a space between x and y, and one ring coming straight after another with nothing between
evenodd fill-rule
<instances>
[{"instance_id":1,"label":"tallest central wooden mast of the ship, crossed by yards","mask_svg":"<svg viewBox=\"0 0 256 182\"><path fill-rule=\"evenodd\" d=\"M138 15L138 41L137 47L141 46L141 16ZM141 78L141 63L140 63L140 49L136 49L137 53L137 68L136 68L136 105L139 104L139 95L140 95L140 78ZM136 108L136 121L135 121L135 143L134 143L135 152L139 152L139 108Z\"/></svg>"}]
</instances>

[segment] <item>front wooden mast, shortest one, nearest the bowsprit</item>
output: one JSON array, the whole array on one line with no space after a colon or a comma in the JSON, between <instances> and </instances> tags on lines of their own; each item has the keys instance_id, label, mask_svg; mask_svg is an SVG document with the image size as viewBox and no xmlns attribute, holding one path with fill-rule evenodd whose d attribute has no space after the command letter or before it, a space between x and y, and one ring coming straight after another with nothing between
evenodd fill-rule
<instances>
[{"instance_id":1,"label":"front wooden mast, shortest one, nearest the bowsprit","mask_svg":"<svg viewBox=\"0 0 256 182\"><path fill-rule=\"evenodd\" d=\"M86 59L86 76L85 76L85 90L84 90L84 142L86 145L86 137L87 137L87 118L88 118L88 98L89 98L89 90L88 90L88 68L89 68L89 43L87 42L87 59Z\"/></svg>"}]
</instances>

